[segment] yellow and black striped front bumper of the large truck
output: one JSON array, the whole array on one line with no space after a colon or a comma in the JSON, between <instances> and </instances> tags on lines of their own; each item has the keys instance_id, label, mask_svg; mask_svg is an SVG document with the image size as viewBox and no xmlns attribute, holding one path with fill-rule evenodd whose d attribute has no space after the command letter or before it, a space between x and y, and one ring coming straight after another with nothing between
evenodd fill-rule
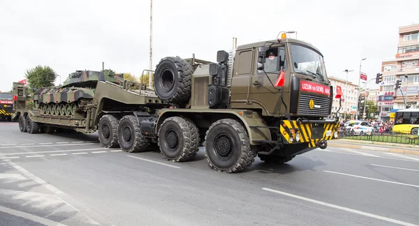
<instances>
[{"instance_id":1,"label":"yellow and black striped front bumper of the large truck","mask_svg":"<svg viewBox=\"0 0 419 226\"><path fill-rule=\"evenodd\" d=\"M309 147L315 147L316 143L321 140L339 139L339 135L337 138L334 137L335 132L338 132L339 130L339 123L324 123L322 125L323 131L314 135L318 128L313 128L313 123L301 123L298 125L295 120L283 120L279 127L279 132L284 137L284 141L287 144L309 143ZM323 133L323 135L321 133ZM300 134L299 141L296 139L297 134ZM290 139L291 137L293 138L292 140Z\"/></svg>"}]
</instances>

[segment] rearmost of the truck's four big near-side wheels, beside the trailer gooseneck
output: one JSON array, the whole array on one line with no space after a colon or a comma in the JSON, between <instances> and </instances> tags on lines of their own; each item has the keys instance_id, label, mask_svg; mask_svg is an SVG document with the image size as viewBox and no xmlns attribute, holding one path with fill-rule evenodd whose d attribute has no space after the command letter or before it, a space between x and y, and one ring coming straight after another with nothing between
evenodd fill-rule
<instances>
[{"instance_id":1,"label":"rearmost of the truck's four big near-side wheels, beside the trailer gooseneck","mask_svg":"<svg viewBox=\"0 0 419 226\"><path fill-rule=\"evenodd\" d=\"M111 114L105 114L99 120L98 135L102 146L107 148L115 148L118 143L118 119Z\"/></svg>"}]
</instances>

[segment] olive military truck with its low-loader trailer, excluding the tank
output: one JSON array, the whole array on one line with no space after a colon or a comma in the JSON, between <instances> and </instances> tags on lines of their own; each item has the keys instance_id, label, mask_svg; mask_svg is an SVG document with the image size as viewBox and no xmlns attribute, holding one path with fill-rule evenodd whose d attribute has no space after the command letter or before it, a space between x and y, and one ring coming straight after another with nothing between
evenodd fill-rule
<instances>
[{"instance_id":1,"label":"olive military truck with its low-loader trailer, excluding the tank","mask_svg":"<svg viewBox=\"0 0 419 226\"><path fill-rule=\"evenodd\" d=\"M210 167L228 173L249 167L256 156L286 163L339 138L323 55L284 34L230 53L220 50L215 63L164 57L154 71L154 93L145 96L129 87L98 80L78 103L74 112L80 114L71 116L45 115L46 102L38 97L41 108L27 114L27 130L97 130L103 146L139 152L157 144L163 158L174 162L191 160L205 146Z\"/></svg>"}]
</instances>

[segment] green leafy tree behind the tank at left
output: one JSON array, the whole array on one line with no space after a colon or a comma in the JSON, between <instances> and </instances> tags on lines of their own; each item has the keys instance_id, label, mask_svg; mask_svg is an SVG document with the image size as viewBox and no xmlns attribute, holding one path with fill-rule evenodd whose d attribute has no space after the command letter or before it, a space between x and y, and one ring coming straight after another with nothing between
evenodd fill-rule
<instances>
[{"instance_id":1,"label":"green leafy tree behind the tank at left","mask_svg":"<svg viewBox=\"0 0 419 226\"><path fill-rule=\"evenodd\" d=\"M27 70L25 77L27 78L29 88L35 90L41 87L54 86L57 75L49 66L38 65Z\"/></svg>"}]
</instances>

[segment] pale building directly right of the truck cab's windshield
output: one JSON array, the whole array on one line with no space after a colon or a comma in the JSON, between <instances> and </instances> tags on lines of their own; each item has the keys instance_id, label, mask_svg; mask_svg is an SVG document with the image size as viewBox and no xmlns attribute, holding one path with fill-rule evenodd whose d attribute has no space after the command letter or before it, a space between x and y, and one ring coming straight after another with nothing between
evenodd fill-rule
<instances>
[{"instance_id":1,"label":"pale building directly right of the truck cab's windshield","mask_svg":"<svg viewBox=\"0 0 419 226\"><path fill-rule=\"evenodd\" d=\"M329 76L328 79L333 86L333 93L336 93L336 86L341 86L343 96L341 98L341 109L339 110L340 114L351 114L351 118L355 118L355 114L358 107L358 95L357 87L358 85L348 82L346 85L346 80L342 80L337 77ZM339 109L339 100L335 99L332 103L332 114L336 114Z\"/></svg>"}]
</instances>

